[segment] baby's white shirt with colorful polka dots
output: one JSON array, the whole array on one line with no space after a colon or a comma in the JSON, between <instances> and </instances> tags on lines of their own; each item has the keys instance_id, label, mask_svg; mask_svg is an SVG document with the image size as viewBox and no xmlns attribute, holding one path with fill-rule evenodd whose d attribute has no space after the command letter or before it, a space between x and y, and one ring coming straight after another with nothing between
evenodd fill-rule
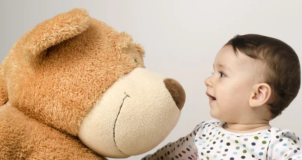
<instances>
[{"instance_id":1,"label":"baby's white shirt with colorful polka dots","mask_svg":"<svg viewBox=\"0 0 302 160\"><path fill-rule=\"evenodd\" d=\"M299 137L276 127L254 133L233 133L216 119L198 124L194 130L170 142L142 160L159 159L302 159Z\"/></svg>"}]
</instances>

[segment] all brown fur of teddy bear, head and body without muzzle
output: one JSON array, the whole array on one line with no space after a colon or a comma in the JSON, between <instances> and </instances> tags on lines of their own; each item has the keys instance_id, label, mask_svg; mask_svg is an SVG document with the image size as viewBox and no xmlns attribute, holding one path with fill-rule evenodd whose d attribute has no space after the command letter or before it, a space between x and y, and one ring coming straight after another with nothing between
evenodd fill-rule
<instances>
[{"instance_id":1,"label":"all brown fur of teddy bear, head and body without muzzle","mask_svg":"<svg viewBox=\"0 0 302 160\"><path fill-rule=\"evenodd\" d=\"M83 9L24 34L0 66L0 105L12 104L0 108L0 159L105 159L72 136L121 75L144 67L143 57L131 36Z\"/></svg>"}]
</instances>

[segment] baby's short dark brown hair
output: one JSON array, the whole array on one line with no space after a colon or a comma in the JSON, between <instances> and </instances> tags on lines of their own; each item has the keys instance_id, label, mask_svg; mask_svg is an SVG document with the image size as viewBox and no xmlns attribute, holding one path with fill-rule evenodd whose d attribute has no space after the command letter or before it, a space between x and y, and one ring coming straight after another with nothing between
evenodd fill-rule
<instances>
[{"instance_id":1,"label":"baby's short dark brown hair","mask_svg":"<svg viewBox=\"0 0 302 160\"><path fill-rule=\"evenodd\" d=\"M236 35L225 45L233 47L247 56L263 61L268 69L264 69L265 81L272 88L272 119L285 110L300 89L300 63L295 51L285 42L263 35Z\"/></svg>"}]
</instances>

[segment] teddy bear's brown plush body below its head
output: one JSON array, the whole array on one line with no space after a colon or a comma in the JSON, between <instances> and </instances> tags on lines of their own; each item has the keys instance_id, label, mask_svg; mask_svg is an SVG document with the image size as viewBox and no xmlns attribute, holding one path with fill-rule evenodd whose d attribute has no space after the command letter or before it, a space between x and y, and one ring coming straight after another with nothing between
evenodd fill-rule
<instances>
[{"instance_id":1,"label":"teddy bear's brown plush body below its head","mask_svg":"<svg viewBox=\"0 0 302 160\"><path fill-rule=\"evenodd\" d=\"M0 107L0 159L106 159L80 140L28 118L12 106Z\"/></svg>"}]
</instances>

